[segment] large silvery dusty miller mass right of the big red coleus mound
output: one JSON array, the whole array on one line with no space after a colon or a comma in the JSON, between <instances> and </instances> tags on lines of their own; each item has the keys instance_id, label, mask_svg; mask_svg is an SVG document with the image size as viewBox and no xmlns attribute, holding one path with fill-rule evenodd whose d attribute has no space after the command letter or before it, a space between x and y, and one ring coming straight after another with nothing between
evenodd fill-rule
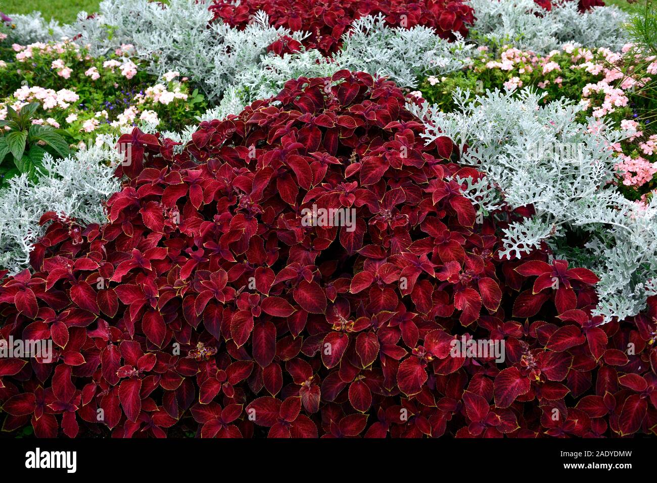
<instances>
[{"instance_id":1,"label":"large silvery dusty miller mass right of the big red coleus mound","mask_svg":"<svg viewBox=\"0 0 657 483\"><path fill-rule=\"evenodd\" d=\"M501 257L522 258L545 242L556 256L600 276L597 314L607 320L637 314L657 293L657 201L642 207L610 184L617 159L608 146L630 133L593 118L578 123L579 106L568 100L543 105L541 97L526 89L471 99L469 91L457 89L455 112L427 104L411 109L426 123L427 142L451 137L461 162L486 173L488 182L466 186L482 213L502 203L512 209L533 205L533 217L503 230ZM581 247L573 260L569 245L577 240Z\"/></svg>"}]
</instances>

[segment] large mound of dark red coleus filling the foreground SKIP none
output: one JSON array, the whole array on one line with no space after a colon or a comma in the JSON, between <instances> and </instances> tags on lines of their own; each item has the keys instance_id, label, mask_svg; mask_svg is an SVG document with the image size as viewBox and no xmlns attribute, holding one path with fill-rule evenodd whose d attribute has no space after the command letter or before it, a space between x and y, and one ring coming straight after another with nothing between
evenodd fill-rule
<instances>
[{"instance_id":1,"label":"large mound of dark red coleus filling the foreground SKIP none","mask_svg":"<svg viewBox=\"0 0 657 483\"><path fill-rule=\"evenodd\" d=\"M0 285L3 429L37 436L625 436L657 427L657 302L500 229L394 83L288 81L174 150L138 129L108 222L53 220ZM332 213L336 216L325 216ZM504 221L500 221L504 220ZM482 341L502 352L481 352ZM503 345L502 345L503 344Z\"/></svg>"}]
</instances>

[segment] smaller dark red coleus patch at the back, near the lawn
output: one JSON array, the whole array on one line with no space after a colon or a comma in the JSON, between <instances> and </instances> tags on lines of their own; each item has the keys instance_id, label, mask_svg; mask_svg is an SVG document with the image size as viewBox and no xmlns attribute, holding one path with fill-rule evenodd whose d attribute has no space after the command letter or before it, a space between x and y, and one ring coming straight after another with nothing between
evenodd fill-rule
<instances>
[{"instance_id":1,"label":"smaller dark red coleus patch at the back, near the lawn","mask_svg":"<svg viewBox=\"0 0 657 483\"><path fill-rule=\"evenodd\" d=\"M462 0L333 0L319 4L306 0L246 0L238 6L232 1L218 0L210 10L215 20L234 27L246 26L256 12L264 11L277 27L308 32L304 45L324 53L336 51L340 37L353 20L367 15L383 14L386 22L396 27L434 28L445 39L453 38L454 32L465 37L467 25L474 22L472 7Z\"/></svg>"}]
</instances>

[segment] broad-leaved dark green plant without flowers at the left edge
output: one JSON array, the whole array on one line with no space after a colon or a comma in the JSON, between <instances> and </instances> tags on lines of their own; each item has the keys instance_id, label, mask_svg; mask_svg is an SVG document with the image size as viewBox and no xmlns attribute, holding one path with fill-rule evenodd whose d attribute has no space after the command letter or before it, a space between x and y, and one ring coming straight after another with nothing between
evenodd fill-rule
<instances>
[{"instance_id":1,"label":"broad-leaved dark green plant without flowers at the left edge","mask_svg":"<svg viewBox=\"0 0 657 483\"><path fill-rule=\"evenodd\" d=\"M39 104L33 102L16 112L7 106L7 119L0 121L0 186L22 173L37 177L41 160L47 152L65 158L69 154L66 140L50 126L33 124Z\"/></svg>"}]
</instances>

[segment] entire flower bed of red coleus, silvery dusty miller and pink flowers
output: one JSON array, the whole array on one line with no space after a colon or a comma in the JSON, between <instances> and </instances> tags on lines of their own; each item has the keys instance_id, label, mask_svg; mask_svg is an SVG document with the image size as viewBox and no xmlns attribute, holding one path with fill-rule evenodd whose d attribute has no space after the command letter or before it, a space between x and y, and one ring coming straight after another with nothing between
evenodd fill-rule
<instances>
[{"instance_id":1,"label":"entire flower bed of red coleus, silvery dusty miller and pink flowers","mask_svg":"<svg viewBox=\"0 0 657 483\"><path fill-rule=\"evenodd\" d=\"M654 435L656 18L3 15L0 340L53 344L0 358L3 431Z\"/></svg>"}]
</instances>

